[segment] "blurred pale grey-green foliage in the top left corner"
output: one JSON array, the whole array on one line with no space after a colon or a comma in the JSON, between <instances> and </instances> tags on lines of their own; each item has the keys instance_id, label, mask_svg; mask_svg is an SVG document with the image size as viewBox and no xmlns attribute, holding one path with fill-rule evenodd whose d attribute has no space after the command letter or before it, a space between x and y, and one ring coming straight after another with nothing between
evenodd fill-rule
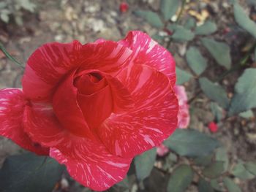
<instances>
[{"instance_id":1,"label":"blurred pale grey-green foliage in the top left corner","mask_svg":"<svg viewBox=\"0 0 256 192\"><path fill-rule=\"evenodd\" d=\"M0 20L9 23L13 18L18 25L23 24L23 11L34 12L36 5L30 0L0 1Z\"/></svg>"}]
</instances>

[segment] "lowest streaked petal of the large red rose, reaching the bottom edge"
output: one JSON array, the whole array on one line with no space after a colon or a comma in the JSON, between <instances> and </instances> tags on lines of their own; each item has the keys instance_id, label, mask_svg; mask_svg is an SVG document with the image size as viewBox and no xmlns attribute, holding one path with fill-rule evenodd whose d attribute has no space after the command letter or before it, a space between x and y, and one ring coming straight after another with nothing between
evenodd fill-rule
<instances>
[{"instance_id":1,"label":"lowest streaked petal of the large red rose, reaching the bottom edge","mask_svg":"<svg viewBox=\"0 0 256 192\"><path fill-rule=\"evenodd\" d=\"M104 191L123 180L132 158L120 158L108 152L104 145L80 139L70 149L52 148L50 156L67 166L69 174L82 185Z\"/></svg>"}]
</instances>

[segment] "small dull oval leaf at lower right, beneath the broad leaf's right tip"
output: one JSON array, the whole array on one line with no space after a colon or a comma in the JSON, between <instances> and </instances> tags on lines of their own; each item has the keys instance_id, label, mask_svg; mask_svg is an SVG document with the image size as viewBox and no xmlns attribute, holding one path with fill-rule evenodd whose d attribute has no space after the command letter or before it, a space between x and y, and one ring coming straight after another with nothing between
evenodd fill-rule
<instances>
[{"instance_id":1,"label":"small dull oval leaf at lower right, beneath the broad leaf's right tip","mask_svg":"<svg viewBox=\"0 0 256 192\"><path fill-rule=\"evenodd\" d=\"M224 162L216 161L203 169L203 175L208 178L214 179L219 177L224 172Z\"/></svg>"}]
</instances>

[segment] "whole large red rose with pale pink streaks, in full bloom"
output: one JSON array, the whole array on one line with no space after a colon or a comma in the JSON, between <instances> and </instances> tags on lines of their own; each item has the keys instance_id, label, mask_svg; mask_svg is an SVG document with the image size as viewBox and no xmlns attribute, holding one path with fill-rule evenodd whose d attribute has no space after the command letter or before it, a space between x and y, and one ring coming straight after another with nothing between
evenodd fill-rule
<instances>
[{"instance_id":1,"label":"whole large red rose with pale pink streaks, in full bloom","mask_svg":"<svg viewBox=\"0 0 256 192\"><path fill-rule=\"evenodd\" d=\"M176 129L175 82L172 55L140 31L119 42L48 43L29 57L23 89L0 91L0 134L104 191Z\"/></svg>"}]
</instances>

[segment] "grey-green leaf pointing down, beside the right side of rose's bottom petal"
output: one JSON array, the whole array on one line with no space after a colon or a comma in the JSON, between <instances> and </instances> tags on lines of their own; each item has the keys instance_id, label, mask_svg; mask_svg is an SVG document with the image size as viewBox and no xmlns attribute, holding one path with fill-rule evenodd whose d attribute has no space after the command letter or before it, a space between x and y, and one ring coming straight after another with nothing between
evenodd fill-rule
<instances>
[{"instance_id":1,"label":"grey-green leaf pointing down, beside the right side of rose's bottom petal","mask_svg":"<svg viewBox=\"0 0 256 192\"><path fill-rule=\"evenodd\" d=\"M135 169L138 180L142 181L151 173L157 156L157 149L147 150L135 157Z\"/></svg>"}]
</instances>

